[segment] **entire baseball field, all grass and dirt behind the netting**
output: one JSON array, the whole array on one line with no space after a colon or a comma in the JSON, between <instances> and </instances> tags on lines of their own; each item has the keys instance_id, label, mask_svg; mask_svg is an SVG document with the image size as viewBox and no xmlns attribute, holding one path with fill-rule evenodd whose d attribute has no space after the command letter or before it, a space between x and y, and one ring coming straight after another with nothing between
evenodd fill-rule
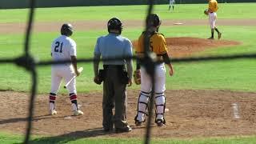
<instances>
[{"instance_id":1,"label":"entire baseball field, all grass and dirt behind the netting","mask_svg":"<svg viewBox=\"0 0 256 144\"><path fill-rule=\"evenodd\" d=\"M172 58L256 54L256 3L220 3L218 29L221 40L208 40L210 26L203 14L207 4L154 6L162 19ZM51 42L63 22L74 26L78 58L92 58L97 38L107 34L106 22L122 20L122 35L136 46L144 28L147 6L88 6L40 8L30 53L38 61L50 60ZM29 10L0 10L0 58L23 54ZM255 143L256 61L244 58L210 62L174 62L174 76L166 75L166 126L152 124L152 143ZM102 86L93 82L92 63L77 78L78 104L85 113L71 114L67 91L57 98L58 114L48 115L50 66L38 67L32 143L142 143L146 125L134 126L139 86L128 88L127 119L133 130L126 134L102 131ZM134 65L135 66L135 65ZM21 67L0 64L0 143L20 143L26 131L30 74Z\"/></svg>"}]
</instances>

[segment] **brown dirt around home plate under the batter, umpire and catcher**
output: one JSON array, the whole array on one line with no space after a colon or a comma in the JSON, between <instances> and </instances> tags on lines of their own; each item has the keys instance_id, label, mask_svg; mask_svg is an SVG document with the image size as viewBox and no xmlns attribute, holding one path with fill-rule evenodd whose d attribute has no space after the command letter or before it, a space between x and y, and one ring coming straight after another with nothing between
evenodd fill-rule
<instances>
[{"instance_id":1,"label":"brown dirt around home plate under the batter, umpire and catcher","mask_svg":"<svg viewBox=\"0 0 256 144\"><path fill-rule=\"evenodd\" d=\"M2 91L0 130L21 134L26 128L29 94ZM102 131L102 94L79 94L82 116L71 116L67 95L58 95L58 114L48 115L48 95L35 102L33 134L51 138L72 136L142 138L145 124L134 126L138 91L128 90L127 118L133 131L128 134ZM8 104L7 104L8 103ZM234 107L236 105L236 108ZM191 138L255 134L256 93L223 90L167 90L166 126L152 125L154 138Z\"/></svg>"}]
</instances>

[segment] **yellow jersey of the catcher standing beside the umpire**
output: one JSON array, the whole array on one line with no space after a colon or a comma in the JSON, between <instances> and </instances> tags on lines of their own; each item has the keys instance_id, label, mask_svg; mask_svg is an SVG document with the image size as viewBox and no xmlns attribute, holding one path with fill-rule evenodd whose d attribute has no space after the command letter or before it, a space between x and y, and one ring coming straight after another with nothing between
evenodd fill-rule
<instances>
[{"instance_id":1,"label":"yellow jersey of the catcher standing beside the umpire","mask_svg":"<svg viewBox=\"0 0 256 144\"><path fill-rule=\"evenodd\" d=\"M163 34L154 32L150 37L150 50L157 54L158 56L167 53L166 38ZM144 32L138 38L138 46L135 47L136 54L144 53Z\"/></svg>"}]
</instances>

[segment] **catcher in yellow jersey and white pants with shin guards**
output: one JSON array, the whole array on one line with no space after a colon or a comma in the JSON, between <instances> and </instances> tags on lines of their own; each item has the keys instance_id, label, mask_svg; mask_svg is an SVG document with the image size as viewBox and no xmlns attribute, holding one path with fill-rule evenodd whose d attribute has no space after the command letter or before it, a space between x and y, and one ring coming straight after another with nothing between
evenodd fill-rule
<instances>
[{"instance_id":1,"label":"catcher in yellow jersey and white pants with shin guards","mask_svg":"<svg viewBox=\"0 0 256 144\"><path fill-rule=\"evenodd\" d=\"M166 39L164 38L163 34L158 33L158 28L161 24L160 18L157 14L150 14L150 17L147 19L150 20L150 49L158 56L158 59L163 61L162 63L155 66L154 75L154 102L156 106L155 122L158 126L163 126L166 123L164 118L166 106L166 68L164 62L170 68L170 76L174 74L174 70L170 63L170 57L167 53ZM138 57L141 57L144 54L144 37L145 32L143 32L138 38L138 46L135 48L135 53ZM142 122L145 122L146 120L145 114L153 84L150 80L150 75L146 73L146 69L143 66L140 67L139 62L137 62L136 69L140 70L141 72L141 91L138 97L138 113L134 120L136 126L141 126Z\"/></svg>"}]
</instances>

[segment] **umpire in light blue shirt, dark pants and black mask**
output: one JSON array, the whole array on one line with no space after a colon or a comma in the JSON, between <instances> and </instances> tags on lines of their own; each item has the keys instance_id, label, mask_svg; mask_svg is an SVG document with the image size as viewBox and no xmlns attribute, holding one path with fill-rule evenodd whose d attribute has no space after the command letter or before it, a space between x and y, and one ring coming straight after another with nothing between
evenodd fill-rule
<instances>
[{"instance_id":1,"label":"umpire in light blue shirt, dark pants and black mask","mask_svg":"<svg viewBox=\"0 0 256 144\"><path fill-rule=\"evenodd\" d=\"M111 18L107 29L109 34L99 37L94 48L94 82L103 81L102 125L106 132L113 130L113 126L115 132L129 132L132 129L126 122L126 85L132 85L133 63L123 57L132 57L132 43L121 36L122 22L118 18ZM104 69L98 70L101 56ZM106 58L119 59L106 61Z\"/></svg>"}]
</instances>

